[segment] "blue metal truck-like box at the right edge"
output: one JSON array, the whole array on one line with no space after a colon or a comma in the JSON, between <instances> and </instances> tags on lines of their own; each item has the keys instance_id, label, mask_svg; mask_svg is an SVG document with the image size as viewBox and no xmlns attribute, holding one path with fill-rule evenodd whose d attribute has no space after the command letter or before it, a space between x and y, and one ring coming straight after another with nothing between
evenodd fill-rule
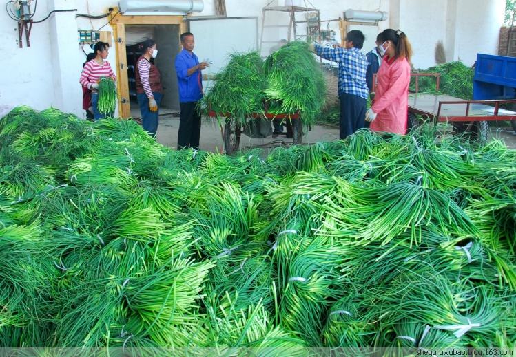
<instances>
[{"instance_id":1,"label":"blue metal truck-like box at the right edge","mask_svg":"<svg viewBox=\"0 0 516 357\"><path fill-rule=\"evenodd\" d=\"M477 54L473 100L516 99L516 57Z\"/></svg>"}]
</instances>

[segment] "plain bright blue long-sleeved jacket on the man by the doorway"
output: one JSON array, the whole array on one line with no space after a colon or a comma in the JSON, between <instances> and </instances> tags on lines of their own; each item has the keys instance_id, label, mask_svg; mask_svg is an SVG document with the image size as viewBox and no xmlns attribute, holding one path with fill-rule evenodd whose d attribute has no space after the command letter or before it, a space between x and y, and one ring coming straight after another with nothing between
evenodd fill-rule
<instances>
[{"instance_id":1,"label":"plain bright blue long-sleeved jacket on the man by the doorway","mask_svg":"<svg viewBox=\"0 0 516 357\"><path fill-rule=\"evenodd\" d=\"M187 75L188 69L199 64L199 58L183 48L176 56L176 74L179 87L179 102L196 102L203 98L203 82L200 70Z\"/></svg>"}]
</instances>

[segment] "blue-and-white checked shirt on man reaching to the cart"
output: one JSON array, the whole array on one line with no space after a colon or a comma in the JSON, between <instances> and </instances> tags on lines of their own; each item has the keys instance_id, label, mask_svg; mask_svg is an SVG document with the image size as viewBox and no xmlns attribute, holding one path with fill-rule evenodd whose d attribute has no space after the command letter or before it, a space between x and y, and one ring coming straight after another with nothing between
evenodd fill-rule
<instances>
[{"instance_id":1,"label":"blue-and-white checked shirt on man reaching to the cart","mask_svg":"<svg viewBox=\"0 0 516 357\"><path fill-rule=\"evenodd\" d=\"M367 58L358 48L330 48L315 45L316 54L339 65L339 96L353 94L367 99Z\"/></svg>"}]
</instances>

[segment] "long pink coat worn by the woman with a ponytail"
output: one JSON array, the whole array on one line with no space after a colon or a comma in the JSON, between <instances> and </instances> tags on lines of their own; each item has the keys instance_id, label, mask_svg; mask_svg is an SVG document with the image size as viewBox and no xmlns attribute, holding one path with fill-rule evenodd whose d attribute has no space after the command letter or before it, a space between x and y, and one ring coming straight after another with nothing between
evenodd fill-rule
<instances>
[{"instance_id":1,"label":"long pink coat worn by the woman with a ponytail","mask_svg":"<svg viewBox=\"0 0 516 357\"><path fill-rule=\"evenodd\" d=\"M406 58L393 60L384 57L377 79L378 85L371 109L378 115L371 122L370 129L404 135L409 106L411 65Z\"/></svg>"}]
</instances>

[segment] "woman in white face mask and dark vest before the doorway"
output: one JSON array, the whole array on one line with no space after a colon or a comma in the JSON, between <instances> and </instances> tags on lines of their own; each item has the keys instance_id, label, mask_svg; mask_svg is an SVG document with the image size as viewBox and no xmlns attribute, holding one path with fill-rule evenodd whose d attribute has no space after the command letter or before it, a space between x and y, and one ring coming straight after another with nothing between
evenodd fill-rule
<instances>
[{"instance_id":1,"label":"woman in white face mask and dark vest before the doorway","mask_svg":"<svg viewBox=\"0 0 516 357\"><path fill-rule=\"evenodd\" d=\"M156 137L158 130L158 105L163 98L161 75L158 67L151 63L156 58L158 49L156 41L148 39L139 46L141 57L136 61L136 96L140 105L143 129L151 136Z\"/></svg>"}]
</instances>

